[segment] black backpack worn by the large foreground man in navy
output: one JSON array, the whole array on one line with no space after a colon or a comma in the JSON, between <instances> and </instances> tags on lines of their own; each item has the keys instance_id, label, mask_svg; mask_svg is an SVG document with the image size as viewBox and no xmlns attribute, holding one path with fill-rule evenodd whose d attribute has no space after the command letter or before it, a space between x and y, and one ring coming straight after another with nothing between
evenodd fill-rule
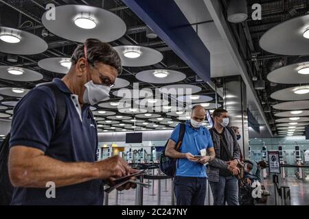
<instances>
[{"instance_id":1,"label":"black backpack worn by the large foreground man in navy","mask_svg":"<svg viewBox=\"0 0 309 219\"><path fill-rule=\"evenodd\" d=\"M65 96L54 83L45 83L41 86L49 87L54 93L56 99L56 130L62 125L65 120L66 104ZM10 182L8 175L8 155L10 152L10 133L5 137L5 140L0 146L0 205L10 205L12 200L13 185Z\"/></svg>"}]
</instances>

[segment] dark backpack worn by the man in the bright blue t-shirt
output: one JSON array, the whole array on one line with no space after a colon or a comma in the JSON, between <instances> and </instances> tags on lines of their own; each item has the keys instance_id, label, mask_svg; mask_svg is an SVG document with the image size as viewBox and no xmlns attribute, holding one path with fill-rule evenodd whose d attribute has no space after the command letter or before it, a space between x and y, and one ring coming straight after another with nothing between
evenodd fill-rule
<instances>
[{"instance_id":1,"label":"dark backpack worn by the man in the bright blue t-shirt","mask_svg":"<svg viewBox=\"0 0 309 219\"><path fill-rule=\"evenodd\" d=\"M183 136L185 136L185 124L180 124L179 129L179 139L176 143L176 151L180 151L181 143L183 142ZM169 141L169 140L168 140ZM176 173L176 158L168 157L165 155L166 146L168 146L168 141L165 143L164 151L161 153L160 156L160 170L169 177L174 177Z\"/></svg>"}]
</instances>

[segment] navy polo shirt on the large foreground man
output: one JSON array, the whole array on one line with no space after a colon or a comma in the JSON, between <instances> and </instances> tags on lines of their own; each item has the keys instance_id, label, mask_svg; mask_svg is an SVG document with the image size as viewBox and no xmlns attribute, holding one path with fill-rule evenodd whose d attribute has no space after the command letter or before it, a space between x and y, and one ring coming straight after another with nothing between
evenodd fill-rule
<instances>
[{"instance_id":1,"label":"navy polo shirt on the large foreground man","mask_svg":"<svg viewBox=\"0 0 309 219\"><path fill-rule=\"evenodd\" d=\"M65 95L67 112L60 130L55 130L56 99L47 86L38 86L26 94L12 119L10 147L22 145L39 149L62 162L95 162L98 135L89 105L78 103L60 79L52 83ZM102 181L91 180L57 188L56 198L47 198L48 188L14 188L12 205L102 205Z\"/></svg>"}]
</instances>

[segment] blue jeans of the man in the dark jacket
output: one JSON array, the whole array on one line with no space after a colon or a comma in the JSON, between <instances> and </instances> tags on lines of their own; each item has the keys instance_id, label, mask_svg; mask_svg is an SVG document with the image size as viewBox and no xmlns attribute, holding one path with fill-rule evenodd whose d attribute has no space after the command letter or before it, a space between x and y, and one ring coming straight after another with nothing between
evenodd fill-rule
<instances>
[{"instance_id":1,"label":"blue jeans of the man in the dark jacket","mask_svg":"<svg viewBox=\"0 0 309 219\"><path fill-rule=\"evenodd\" d=\"M214 205L239 205L238 203L238 179L236 177L219 176L218 182L209 181Z\"/></svg>"}]
</instances>

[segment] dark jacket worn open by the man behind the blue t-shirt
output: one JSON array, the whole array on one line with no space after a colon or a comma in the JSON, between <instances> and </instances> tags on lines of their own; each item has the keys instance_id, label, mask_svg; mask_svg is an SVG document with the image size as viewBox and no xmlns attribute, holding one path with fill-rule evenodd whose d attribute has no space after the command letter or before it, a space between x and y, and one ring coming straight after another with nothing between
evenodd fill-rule
<instances>
[{"instance_id":1,"label":"dark jacket worn open by the man behind the blue t-shirt","mask_svg":"<svg viewBox=\"0 0 309 219\"><path fill-rule=\"evenodd\" d=\"M228 130L229 129L229 130ZM207 168L208 180L213 182L219 181L219 168L227 168L225 161L220 159L220 136L214 131L214 127L209 129L211 133L212 142L214 142L214 150L216 152L216 158L210 162ZM227 127L224 129L225 140L227 141L227 147L229 152L233 156L233 159L240 159L240 146L237 142L236 135L233 129Z\"/></svg>"}]
</instances>

